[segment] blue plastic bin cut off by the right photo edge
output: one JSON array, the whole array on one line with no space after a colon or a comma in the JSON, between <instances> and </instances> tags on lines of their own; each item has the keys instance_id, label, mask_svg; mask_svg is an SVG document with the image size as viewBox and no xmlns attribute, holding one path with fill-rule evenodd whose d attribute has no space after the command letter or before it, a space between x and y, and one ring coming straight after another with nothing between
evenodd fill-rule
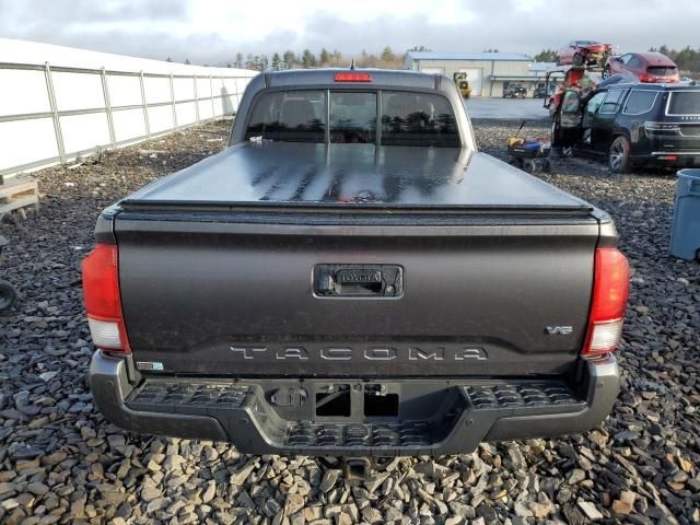
<instances>
[{"instance_id":1,"label":"blue plastic bin cut off by the right photo edge","mask_svg":"<svg viewBox=\"0 0 700 525\"><path fill-rule=\"evenodd\" d=\"M700 257L700 168L678 172L670 253L688 260Z\"/></svg>"}]
</instances>

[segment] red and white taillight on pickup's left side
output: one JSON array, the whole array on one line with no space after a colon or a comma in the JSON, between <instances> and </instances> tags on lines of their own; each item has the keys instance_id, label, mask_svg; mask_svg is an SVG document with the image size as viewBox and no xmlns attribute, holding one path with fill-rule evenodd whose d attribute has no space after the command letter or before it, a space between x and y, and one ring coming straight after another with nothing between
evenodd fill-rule
<instances>
[{"instance_id":1,"label":"red and white taillight on pickup's left side","mask_svg":"<svg viewBox=\"0 0 700 525\"><path fill-rule=\"evenodd\" d=\"M98 244L83 260L83 299L88 324L97 348L131 351L121 314L119 259L116 246Z\"/></svg>"}]
</instances>

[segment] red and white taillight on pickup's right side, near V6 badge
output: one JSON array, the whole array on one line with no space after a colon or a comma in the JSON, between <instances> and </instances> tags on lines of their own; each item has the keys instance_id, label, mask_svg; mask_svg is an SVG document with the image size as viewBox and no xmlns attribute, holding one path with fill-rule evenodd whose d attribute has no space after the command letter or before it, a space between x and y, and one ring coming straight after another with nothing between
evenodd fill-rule
<instances>
[{"instance_id":1,"label":"red and white taillight on pickup's right side, near V6 badge","mask_svg":"<svg viewBox=\"0 0 700 525\"><path fill-rule=\"evenodd\" d=\"M617 248L597 248L588 334L581 351L594 358L615 350L622 335L630 289L630 266Z\"/></svg>"}]
</instances>

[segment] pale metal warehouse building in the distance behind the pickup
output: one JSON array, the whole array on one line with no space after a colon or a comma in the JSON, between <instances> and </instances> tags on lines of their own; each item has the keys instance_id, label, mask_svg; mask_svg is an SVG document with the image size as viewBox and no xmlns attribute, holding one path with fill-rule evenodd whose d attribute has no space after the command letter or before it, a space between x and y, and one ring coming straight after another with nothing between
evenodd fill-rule
<instances>
[{"instance_id":1,"label":"pale metal warehouse building in the distance behind the pickup","mask_svg":"<svg viewBox=\"0 0 700 525\"><path fill-rule=\"evenodd\" d=\"M532 62L530 57L516 52L408 51L404 69L442 73L450 79L456 72L465 72L471 85L471 96L502 96L509 82L522 83L528 94L542 84L542 78L530 70Z\"/></svg>"}]
</instances>

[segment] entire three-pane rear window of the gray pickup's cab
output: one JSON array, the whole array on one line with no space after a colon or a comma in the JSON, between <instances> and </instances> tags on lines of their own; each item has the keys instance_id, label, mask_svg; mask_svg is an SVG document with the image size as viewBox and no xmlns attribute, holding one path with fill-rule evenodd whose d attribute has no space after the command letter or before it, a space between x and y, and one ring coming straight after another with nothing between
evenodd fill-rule
<instances>
[{"instance_id":1,"label":"entire three-pane rear window of the gray pickup's cab","mask_svg":"<svg viewBox=\"0 0 700 525\"><path fill-rule=\"evenodd\" d=\"M276 142L376 143L381 137L382 145L460 145L454 112L441 95L383 91L380 121L382 129L377 133L377 92L270 92L255 102L245 138Z\"/></svg>"}]
</instances>

